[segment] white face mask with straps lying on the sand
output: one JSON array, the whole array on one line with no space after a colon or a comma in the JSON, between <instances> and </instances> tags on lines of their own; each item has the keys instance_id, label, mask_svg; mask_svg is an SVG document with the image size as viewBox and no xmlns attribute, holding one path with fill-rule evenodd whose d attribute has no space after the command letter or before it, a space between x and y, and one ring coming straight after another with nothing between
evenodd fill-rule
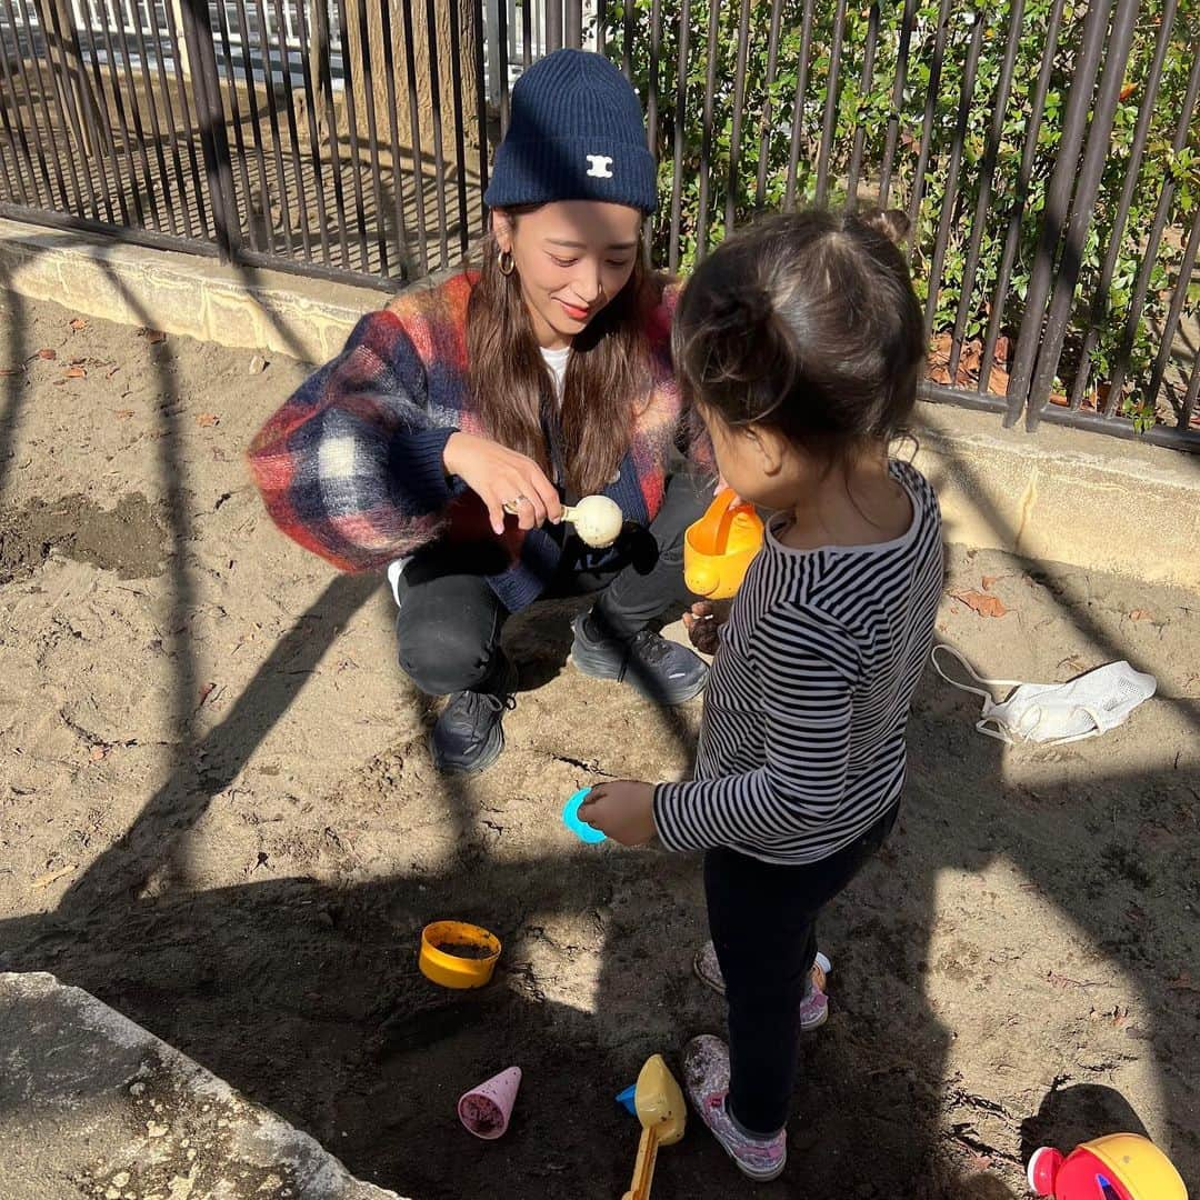
<instances>
[{"instance_id":1,"label":"white face mask with straps lying on the sand","mask_svg":"<svg viewBox=\"0 0 1200 1200\"><path fill-rule=\"evenodd\" d=\"M955 683L937 661L938 653L954 658L982 688ZM962 655L948 646L934 647L934 668L952 686L983 696L980 733L1001 742L1079 742L1116 728L1158 688L1153 676L1134 671L1128 662L1109 662L1070 683L1021 683L1018 679L980 679ZM997 703L985 688L1012 688Z\"/></svg>"}]
</instances>

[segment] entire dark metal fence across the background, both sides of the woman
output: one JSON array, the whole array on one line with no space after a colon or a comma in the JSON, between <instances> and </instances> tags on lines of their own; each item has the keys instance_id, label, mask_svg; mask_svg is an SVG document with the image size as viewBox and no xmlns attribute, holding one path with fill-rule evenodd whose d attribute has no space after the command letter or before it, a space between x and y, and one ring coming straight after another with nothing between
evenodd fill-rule
<instances>
[{"instance_id":1,"label":"entire dark metal fence across the background, both sides of the woman","mask_svg":"<svg viewBox=\"0 0 1200 1200\"><path fill-rule=\"evenodd\" d=\"M1178 0L0 0L0 214L394 289L467 259L514 80L582 44L642 92L662 265L900 205L928 396L1194 450L1198 37Z\"/></svg>"}]
</instances>

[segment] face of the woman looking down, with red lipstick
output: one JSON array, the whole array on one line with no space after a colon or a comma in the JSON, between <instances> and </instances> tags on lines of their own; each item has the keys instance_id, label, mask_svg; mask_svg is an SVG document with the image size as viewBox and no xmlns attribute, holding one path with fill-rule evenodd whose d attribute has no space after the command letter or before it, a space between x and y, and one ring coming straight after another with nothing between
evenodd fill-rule
<instances>
[{"instance_id":1,"label":"face of the woman looking down, with red lipstick","mask_svg":"<svg viewBox=\"0 0 1200 1200\"><path fill-rule=\"evenodd\" d=\"M538 343L570 346L629 282L641 252L642 215L624 204L560 200L520 216L492 214L502 251L512 253Z\"/></svg>"}]
</instances>

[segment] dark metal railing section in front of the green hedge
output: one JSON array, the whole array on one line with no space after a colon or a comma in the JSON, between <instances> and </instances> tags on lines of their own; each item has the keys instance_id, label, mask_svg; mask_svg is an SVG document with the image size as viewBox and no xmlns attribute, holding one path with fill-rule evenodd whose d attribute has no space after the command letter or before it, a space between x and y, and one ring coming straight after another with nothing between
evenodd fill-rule
<instances>
[{"instance_id":1,"label":"dark metal railing section in front of the green hedge","mask_svg":"<svg viewBox=\"0 0 1200 1200\"><path fill-rule=\"evenodd\" d=\"M1178 0L630 0L607 50L662 163L652 254L757 210L899 206L925 394L1200 446L1200 13Z\"/></svg>"}]
</instances>

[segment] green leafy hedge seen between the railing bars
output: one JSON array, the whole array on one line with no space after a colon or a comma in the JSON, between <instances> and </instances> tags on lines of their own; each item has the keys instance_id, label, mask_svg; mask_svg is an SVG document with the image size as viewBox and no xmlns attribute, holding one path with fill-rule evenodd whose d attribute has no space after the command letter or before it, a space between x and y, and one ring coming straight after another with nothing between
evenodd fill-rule
<instances>
[{"instance_id":1,"label":"green leafy hedge seen between the railing bars","mask_svg":"<svg viewBox=\"0 0 1200 1200\"><path fill-rule=\"evenodd\" d=\"M666 264L672 260L670 217L677 166L673 158L673 145L676 128L682 122L684 151L678 168L683 218L676 254L680 270L686 271L695 262L701 227L703 107L709 71L707 49L709 44L709 2L708 0L695 0L690 6L690 52L685 64L685 102L682 114L676 110L682 4L680 0L658 0L658 2L661 5L664 17L658 72L658 152L661 164L659 182L662 204L654 223L654 252L658 263ZM764 0L749 0L746 4L749 22L749 37L745 42L746 85L740 106L739 163L733 181L733 209L737 222L745 221L758 208L760 173L762 173L766 185L762 194L763 208L780 208L784 204L787 188L804 6L798 0L782 0L780 5L781 35L778 68L774 79L768 80L772 7L772 4L764 2ZM817 160L830 78L833 30L838 7L830 0L814 6L812 43L808 56L809 73L800 115L800 152L796 178L796 194L800 203L811 200L817 187ZM904 5L898 2L872 7L862 5L845 5L844 7L844 38L838 71L836 125L829 163L830 194L828 198L832 203L838 203L845 197L845 181L856 132L862 138L863 144L864 179L860 194L870 197L872 191L877 192L888 124L889 119L895 115L898 119L898 150L890 204L908 209L922 134L925 130L938 5L930 2L916 5L916 28L910 49L907 79L900 102L895 107L893 106L893 83L900 47ZM966 325L968 341L982 338L996 288L1004 234L1016 199L1018 174L1026 142L1026 131L1030 126L1036 80L1045 53L1050 11L1050 0L1030 0L1024 6L1016 70L1004 109L1003 133L996 148L996 169L992 196L985 218L982 253L978 270L970 284ZM968 97L958 194L947 215L949 245L938 271L931 330L935 335L935 344L937 335L943 335L941 338L943 346L948 341L944 337L944 331L950 330L954 325L964 290L968 239L976 204L980 188L984 186L985 173L982 167L996 104L1012 4L980 5L973 11L950 5L950 12L946 34L944 64L934 97L926 192L917 214L913 239L916 278L918 289L925 299L925 289L929 287L930 272L934 266L931 259L938 222L946 212L952 143L959 120L965 64L974 22L979 19L982 22L982 49L978 74L973 91ZM1070 385L1074 364L1079 360L1082 335L1086 332L1091 318L1092 301L1100 280L1102 258L1114 236L1117 197L1129 162L1133 130L1147 86L1162 12L1163 0L1147 0L1139 16L1134 49L1126 72L1126 84L1116 115L1111 151L1108 156L1100 196L1087 235L1072 336L1063 355L1062 371L1066 378L1058 380L1056 388L1064 389ZM1182 246L1194 218L1196 205L1200 203L1200 150L1196 148L1198 139L1200 139L1196 127L1200 122L1193 121L1190 142L1184 150L1172 155L1170 146L1183 107L1183 95L1195 53L1194 48L1200 44L1200 22L1198 22L1194 11L1187 4L1182 4L1180 13L1181 16L1176 17L1171 30L1166 62L1153 108L1150 143L1138 176L1133 209L1126 227L1118 233L1121 251L1111 284L1108 288L1108 295L1099 307L1098 336L1091 352L1092 382L1088 386L1088 395L1094 401L1094 385L1103 385L1111 376L1121 342L1124 316L1141 263L1142 248L1162 187L1168 178L1171 178L1176 188L1170 223L1153 264L1150 295L1133 347L1130 384L1127 389L1129 392L1127 412L1134 415L1139 425L1148 424L1154 419L1153 404L1142 396L1145 379L1148 374L1147 367L1153 361L1158 348L1153 328L1156 322L1160 322L1165 316L1170 305L1171 289L1177 282ZM648 95L650 70L652 0L634 0L631 16L634 37L629 48L629 58L635 83L644 98ZM1019 253L1008 292L1002 298L1004 326L1008 332L1015 331L1019 324L1022 301L1030 282L1046 186L1062 133L1061 121L1080 49L1085 16L1085 4L1068 2L1066 5L1062 30L1054 56L1045 116L1038 132L1031 186L1020 220ZM726 229L730 152L737 98L734 79L742 17L740 4L726 2L718 6L716 86L713 96L709 154L710 190L707 203L706 240L709 246L719 242ZM605 20L608 53L617 61L622 61L625 55L623 44L625 10L620 4L608 5ZM878 47L874 79L864 86L862 78L864 49L871 20L878 23ZM1200 286L1190 284L1187 300L1188 311L1194 314L1198 304L1200 304Z\"/></svg>"}]
</instances>

